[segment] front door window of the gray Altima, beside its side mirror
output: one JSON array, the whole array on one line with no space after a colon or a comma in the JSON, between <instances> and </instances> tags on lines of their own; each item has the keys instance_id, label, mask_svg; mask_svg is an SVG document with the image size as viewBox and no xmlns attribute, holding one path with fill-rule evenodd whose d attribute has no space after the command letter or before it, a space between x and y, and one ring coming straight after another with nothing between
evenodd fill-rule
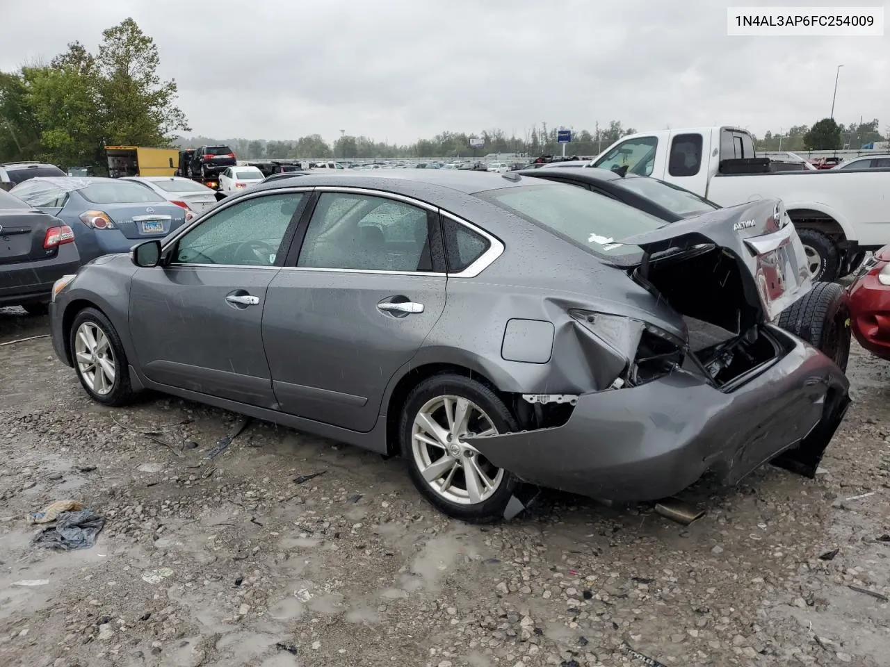
<instances>
[{"instance_id":1,"label":"front door window of the gray Altima, beside its side mirror","mask_svg":"<svg viewBox=\"0 0 890 667\"><path fill-rule=\"evenodd\" d=\"M273 266L303 193L243 199L206 218L176 245L179 264Z\"/></svg>"}]
</instances>

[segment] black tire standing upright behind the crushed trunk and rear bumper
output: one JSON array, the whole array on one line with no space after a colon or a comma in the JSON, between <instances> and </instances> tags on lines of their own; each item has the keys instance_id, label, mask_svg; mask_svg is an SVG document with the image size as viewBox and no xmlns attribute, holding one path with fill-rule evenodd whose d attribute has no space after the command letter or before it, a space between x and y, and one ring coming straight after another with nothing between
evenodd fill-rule
<instances>
[{"instance_id":1,"label":"black tire standing upright behind the crushed trunk and rear bumper","mask_svg":"<svg viewBox=\"0 0 890 667\"><path fill-rule=\"evenodd\" d=\"M804 339L846 372L850 357L850 309L844 288L837 283L815 283L779 316L785 331Z\"/></svg>"}]
</instances>

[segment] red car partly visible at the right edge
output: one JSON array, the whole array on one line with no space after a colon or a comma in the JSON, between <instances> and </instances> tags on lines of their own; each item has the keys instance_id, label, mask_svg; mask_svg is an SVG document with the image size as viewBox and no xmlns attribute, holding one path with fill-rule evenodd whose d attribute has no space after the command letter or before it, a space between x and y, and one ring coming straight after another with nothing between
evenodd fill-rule
<instances>
[{"instance_id":1,"label":"red car partly visible at the right edge","mask_svg":"<svg viewBox=\"0 0 890 667\"><path fill-rule=\"evenodd\" d=\"M872 354L890 360L890 245L862 262L847 293L856 340Z\"/></svg>"}]
</instances>

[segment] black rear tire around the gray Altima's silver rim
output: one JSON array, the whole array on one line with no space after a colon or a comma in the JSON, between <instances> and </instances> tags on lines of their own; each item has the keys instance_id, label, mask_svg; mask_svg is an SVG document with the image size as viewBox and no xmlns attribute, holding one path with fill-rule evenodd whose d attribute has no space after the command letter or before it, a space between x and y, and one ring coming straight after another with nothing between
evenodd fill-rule
<instances>
[{"instance_id":1,"label":"black rear tire around the gray Altima's silver rim","mask_svg":"<svg viewBox=\"0 0 890 667\"><path fill-rule=\"evenodd\" d=\"M427 501L449 517L459 518L472 523L497 521L504 517L506 504L510 501L510 497L513 495L514 490L520 484L519 478L512 472L508 470L502 471L503 477L500 480L500 484L490 497L482 502L465 504L450 501L448 498L440 494L440 492L434 490L431 483L424 479L419 468L412 447L412 429L415 418L421 408L429 401L448 395L466 398L478 406L485 416L489 418L489 421L494 428L498 430L498 433L519 430L519 425L516 422L514 415L510 412L510 409L505 405L504 401L498 397L498 394L490 390L486 385L464 377L463 375L433 375L433 377L429 377L417 384L417 387L411 391L408 398L405 400L405 405L402 407L401 411L401 419L399 422L399 444L401 447L401 455L408 465L411 481L414 483L414 486L417 486L417 490L424 495ZM449 457L449 454L444 454L444 456ZM437 458L436 460L438 461L439 459ZM460 471L457 472L456 477L463 476L464 459L458 457L457 461L460 461L461 464L459 467ZM481 455L478 455L473 461L478 462L479 465L483 467L490 466L490 463ZM497 478L497 473L495 473L495 478Z\"/></svg>"}]
</instances>

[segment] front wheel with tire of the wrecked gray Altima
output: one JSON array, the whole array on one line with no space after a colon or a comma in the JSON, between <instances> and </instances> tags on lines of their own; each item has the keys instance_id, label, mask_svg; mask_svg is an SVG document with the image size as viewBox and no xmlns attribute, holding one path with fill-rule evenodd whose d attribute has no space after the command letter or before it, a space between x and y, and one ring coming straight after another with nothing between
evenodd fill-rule
<instances>
[{"instance_id":1,"label":"front wheel with tire of the wrecked gray Altima","mask_svg":"<svg viewBox=\"0 0 890 667\"><path fill-rule=\"evenodd\" d=\"M105 406L132 402L129 366L114 326L99 310L77 313L70 332L71 360L86 393Z\"/></svg>"}]
</instances>

